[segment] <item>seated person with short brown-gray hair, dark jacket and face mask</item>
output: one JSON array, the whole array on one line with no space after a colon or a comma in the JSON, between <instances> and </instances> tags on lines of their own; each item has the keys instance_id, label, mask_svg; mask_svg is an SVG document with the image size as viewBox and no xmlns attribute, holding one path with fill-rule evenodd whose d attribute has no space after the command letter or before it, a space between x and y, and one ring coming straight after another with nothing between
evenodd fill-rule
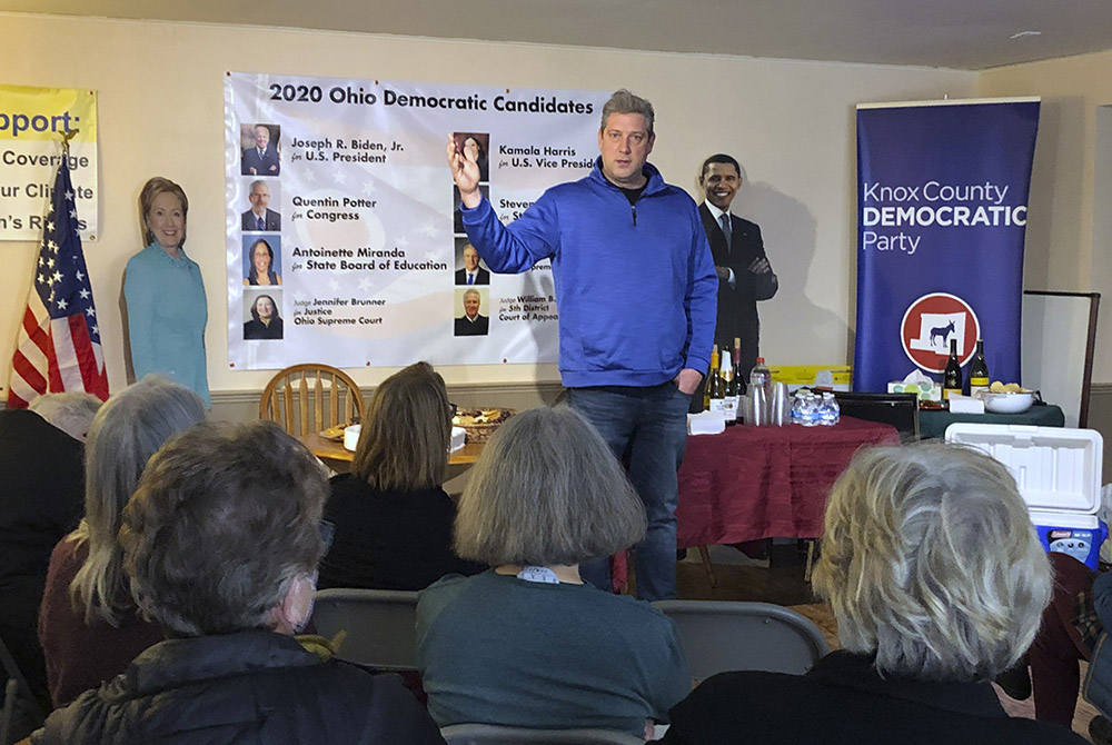
<instances>
[{"instance_id":1,"label":"seated person with short brown-gray hair, dark jacket and face mask","mask_svg":"<svg viewBox=\"0 0 1112 745\"><path fill-rule=\"evenodd\" d=\"M32 743L443 743L393 677L294 634L324 553L324 469L270 421L200 425L123 510L131 593L168 638L54 712Z\"/></svg>"}]
</instances>

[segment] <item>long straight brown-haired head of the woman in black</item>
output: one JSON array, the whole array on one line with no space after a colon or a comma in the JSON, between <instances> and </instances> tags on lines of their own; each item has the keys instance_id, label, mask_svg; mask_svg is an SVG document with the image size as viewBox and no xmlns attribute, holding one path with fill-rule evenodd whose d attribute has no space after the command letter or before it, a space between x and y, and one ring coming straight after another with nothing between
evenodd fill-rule
<instances>
[{"instance_id":1,"label":"long straight brown-haired head of the woman in black","mask_svg":"<svg viewBox=\"0 0 1112 745\"><path fill-rule=\"evenodd\" d=\"M444 378L428 362L417 362L375 389L353 469L384 491L440 486L450 440L451 405Z\"/></svg>"}]
</instances>

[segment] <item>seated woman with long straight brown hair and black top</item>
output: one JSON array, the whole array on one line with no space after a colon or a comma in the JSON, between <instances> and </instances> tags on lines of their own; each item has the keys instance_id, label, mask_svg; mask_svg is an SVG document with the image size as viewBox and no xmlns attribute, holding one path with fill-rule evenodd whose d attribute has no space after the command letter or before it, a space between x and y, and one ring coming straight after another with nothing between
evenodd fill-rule
<instances>
[{"instance_id":1,"label":"seated woman with long straight brown hair and black top","mask_svg":"<svg viewBox=\"0 0 1112 745\"><path fill-rule=\"evenodd\" d=\"M440 488L451 441L444 378L428 362L395 372L375 389L350 474L332 478L325 519L335 526L318 585L424 589L483 564L456 556L456 506Z\"/></svg>"}]
</instances>

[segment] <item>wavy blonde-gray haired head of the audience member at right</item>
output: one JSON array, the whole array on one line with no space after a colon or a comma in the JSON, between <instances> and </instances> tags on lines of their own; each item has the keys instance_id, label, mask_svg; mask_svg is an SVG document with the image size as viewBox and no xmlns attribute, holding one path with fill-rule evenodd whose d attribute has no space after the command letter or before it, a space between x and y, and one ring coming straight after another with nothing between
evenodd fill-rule
<instances>
[{"instance_id":1,"label":"wavy blonde-gray haired head of the audience member at right","mask_svg":"<svg viewBox=\"0 0 1112 745\"><path fill-rule=\"evenodd\" d=\"M815 588L881 675L991 679L1030 646L1050 565L1007 469L957 446L858 454L826 506Z\"/></svg>"}]
</instances>

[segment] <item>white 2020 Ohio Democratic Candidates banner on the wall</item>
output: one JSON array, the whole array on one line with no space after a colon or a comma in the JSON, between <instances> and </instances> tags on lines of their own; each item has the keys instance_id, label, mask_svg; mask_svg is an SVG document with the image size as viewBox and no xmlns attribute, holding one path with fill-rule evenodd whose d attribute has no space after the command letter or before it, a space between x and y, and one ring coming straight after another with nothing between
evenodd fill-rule
<instances>
[{"instance_id":1,"label":"white 2020 Ohio Democratic Candidates banner on the wall","mask_svg":"<svg viewBox=\"0 0 1112 745\"><path fill-rule=\"evenodd\" d=\"M589 172L608 96L228 73L229 365L555 361L552 267L489 271L445 151L510 222Z\"/></svg>"}]
</instances>

